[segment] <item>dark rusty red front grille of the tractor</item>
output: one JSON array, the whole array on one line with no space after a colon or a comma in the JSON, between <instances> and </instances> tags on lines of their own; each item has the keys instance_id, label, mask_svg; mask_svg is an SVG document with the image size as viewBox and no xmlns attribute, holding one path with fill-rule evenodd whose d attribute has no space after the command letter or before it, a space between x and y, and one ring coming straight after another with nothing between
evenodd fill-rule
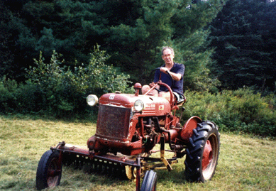
<instances>
[{"instance_id":1,"label":"dark rusty red front grille of the tractor","mask_svg":"<svg viewBox=\"0 0 276 191\"><path fill-rule=\"evenodd\" d=\"M127 138L130 116L131 108L99 105L96 133L114 139Z\"/></svg>"}]
</instances>

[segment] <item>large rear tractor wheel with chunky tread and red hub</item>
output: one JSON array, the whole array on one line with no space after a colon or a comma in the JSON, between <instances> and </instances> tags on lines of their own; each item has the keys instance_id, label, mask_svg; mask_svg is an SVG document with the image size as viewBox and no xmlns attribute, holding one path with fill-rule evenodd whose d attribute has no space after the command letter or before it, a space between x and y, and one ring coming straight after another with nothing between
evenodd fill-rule
<instances>
[{"instance_id":1,"label":"large rear tractor wheel with chunky tread and red hub","mask_svg":"<svg viewBox=\"0 0 276 191\"><path fill-rule=\"evenodd\" d=\"M220 134L216 124L202 121L189 138L185 175L189 182L206 182L213 177L219 159Z\"/></svg>"}]
</instances>

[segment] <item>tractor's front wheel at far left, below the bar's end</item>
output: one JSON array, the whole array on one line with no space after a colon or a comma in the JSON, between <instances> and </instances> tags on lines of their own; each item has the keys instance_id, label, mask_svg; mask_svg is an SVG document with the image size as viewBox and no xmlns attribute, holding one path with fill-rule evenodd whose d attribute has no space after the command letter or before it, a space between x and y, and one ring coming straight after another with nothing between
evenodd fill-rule
<instances>
[{"instance_id":1,"label":"tractor's front wheel at far left, below the bar's end","mask_svg":"<svg viewBox=\"0 0 276 191\"><path fill-rule=\"evenodd\" d=\"M60 153L46 151L40 158L36 171L36 188L42 190L46 187L60 185L62 167L58 164Z\"/></svg>"}]
</instances>

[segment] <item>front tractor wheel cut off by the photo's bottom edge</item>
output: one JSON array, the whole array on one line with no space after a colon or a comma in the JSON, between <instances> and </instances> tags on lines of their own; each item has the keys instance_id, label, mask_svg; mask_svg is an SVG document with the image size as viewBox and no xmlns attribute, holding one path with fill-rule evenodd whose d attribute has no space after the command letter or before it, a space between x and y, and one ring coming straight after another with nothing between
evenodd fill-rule
<instances>
[{"instance_id":1,"label":"front tractor wheel cut off by the photo's bottom edge","mask_svg":"<svg viewBox=\"0 0 276 191\"><path fill-rule=\"evenodd\" d=\"M140 191L155 191L157 185L157 174L153 170L148 170L145 173Z\"/></svg>"}]
</instances>

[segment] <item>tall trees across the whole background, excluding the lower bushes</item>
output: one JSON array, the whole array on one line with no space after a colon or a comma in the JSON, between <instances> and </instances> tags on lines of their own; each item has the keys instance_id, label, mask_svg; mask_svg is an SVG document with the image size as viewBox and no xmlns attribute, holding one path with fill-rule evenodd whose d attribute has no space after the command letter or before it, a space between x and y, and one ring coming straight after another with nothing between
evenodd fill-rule
<instances>
[{"instance_id":1,"label":"tall trees across the whole background, excluding the lower bushes","mask_svg":"<svg viewBox=\"0 0 276 191\"><path fill-rule=\"evenodd\" d=\"M160 49L170 45L187 68L186 89L273 92L275 15L276 2L265 0L3 0L0 77L24 82L40 51L46 61L55 50L63 65L87 65L100 45L111 55L107 65L145 84L162 65Z\"/></svg>"}]
</instances>

